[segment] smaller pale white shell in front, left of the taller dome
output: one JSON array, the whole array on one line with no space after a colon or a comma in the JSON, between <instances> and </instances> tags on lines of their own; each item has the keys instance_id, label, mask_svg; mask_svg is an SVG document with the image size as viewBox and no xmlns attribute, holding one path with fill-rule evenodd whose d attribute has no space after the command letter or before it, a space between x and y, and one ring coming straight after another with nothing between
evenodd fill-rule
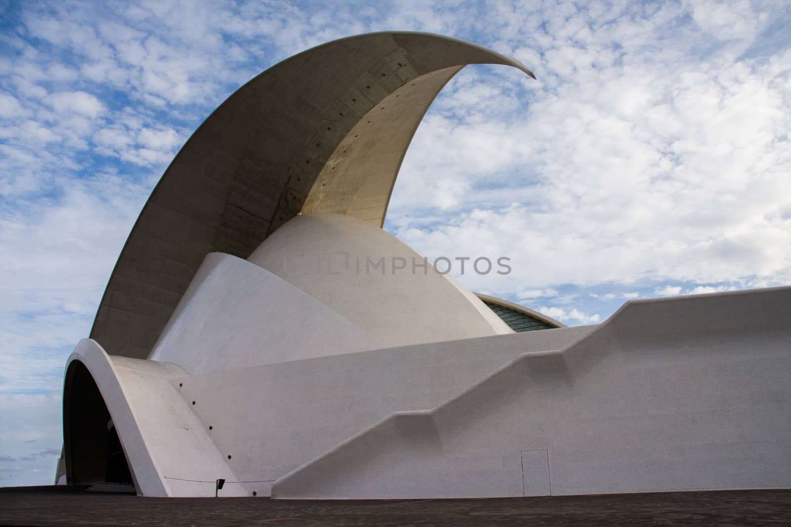
<instances>
[{"instance_id":1,"label":"smaller pale white shell in front, left of the taller dome","mask_svg":"<svg viewBox=\"0 0 791 527\"><path fill-rule=\"evenodd\" d=\"M310 323L295 331L301 321ZM277 275L230 254L210 253L149 359L202 375L381 347Z\"/></svg>"}]
</instances>

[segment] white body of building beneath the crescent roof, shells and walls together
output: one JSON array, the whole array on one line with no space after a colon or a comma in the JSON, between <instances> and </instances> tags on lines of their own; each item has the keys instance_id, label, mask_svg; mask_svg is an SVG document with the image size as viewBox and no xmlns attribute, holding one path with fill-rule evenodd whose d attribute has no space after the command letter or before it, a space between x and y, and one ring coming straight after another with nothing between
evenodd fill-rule
<instances>
[{"instance_id":1,"label":"white body of building beneath the crescent roof, shells and walls together","mask_svg":"<svg viewBox=\"0 0 791 527\"><path fill-rule=\"evenodd\" d=\"M306 499L791 487L791 288L497 334L437 274L305 265L335 247L417 254L298 216L250 262L210 254L149 360L78 345L142 494L212 495L182 480L218 477Z\"/></svg>"}]
</instances>

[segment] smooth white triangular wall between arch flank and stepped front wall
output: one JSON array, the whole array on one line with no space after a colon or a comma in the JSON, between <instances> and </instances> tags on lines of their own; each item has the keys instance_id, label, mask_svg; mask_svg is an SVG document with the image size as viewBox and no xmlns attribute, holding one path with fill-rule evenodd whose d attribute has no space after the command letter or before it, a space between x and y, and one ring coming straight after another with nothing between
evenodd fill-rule
<instances>
[{"instance_id":1,"label":"smooth white triangular wall between arch flank and stepped front wall","mask_svg":"<svg viewBox=\"0 0 791 527\"><path fill-rule=\"evenodd\" d=\"M594 327L326 356L172 384L196 401L191 408L233 454L228 463L242 480L276 480L392 412L440 405L521 353L566 347Z\"/></svg>"}]
</instances>

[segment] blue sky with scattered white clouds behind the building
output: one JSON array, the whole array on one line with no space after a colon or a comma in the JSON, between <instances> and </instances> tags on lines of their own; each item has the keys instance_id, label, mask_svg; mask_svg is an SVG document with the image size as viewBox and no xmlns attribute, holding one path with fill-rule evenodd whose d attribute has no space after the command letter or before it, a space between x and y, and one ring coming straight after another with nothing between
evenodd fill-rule
<instances>
[{"instance_id":1,"label":"blue sky with scattered white clouds behind the building","mask_svg":"<svg viewBox=\"0 0 791 527\"><path fill-rule=\"evenodd\" d=\"M184 141L275 63L434 32L468 66L407 152L385 229L568 325L624 302L791 284L791 4L3 2L0 486L51 484L66 359Z\"/></svg>"}]
</instances>

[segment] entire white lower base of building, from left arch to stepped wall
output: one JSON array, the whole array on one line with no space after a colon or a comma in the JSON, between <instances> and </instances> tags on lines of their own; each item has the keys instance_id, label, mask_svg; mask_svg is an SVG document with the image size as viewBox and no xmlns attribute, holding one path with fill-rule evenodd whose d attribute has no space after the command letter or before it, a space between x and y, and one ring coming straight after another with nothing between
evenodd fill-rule
<instances>
[{"instance_id":1,"label":"entire white lower base of building, from left arch to stepped wall","mask_svg":"<svg viewBox=\"0 0 791 527\"><path fill-rule=\"evenodd\" d=\"M207 375L93 341L71 360L96 378L145 495L213 490L165 476L300 499L791 487L789 320L778 288Z\"/></svg>"}]
</instances>

